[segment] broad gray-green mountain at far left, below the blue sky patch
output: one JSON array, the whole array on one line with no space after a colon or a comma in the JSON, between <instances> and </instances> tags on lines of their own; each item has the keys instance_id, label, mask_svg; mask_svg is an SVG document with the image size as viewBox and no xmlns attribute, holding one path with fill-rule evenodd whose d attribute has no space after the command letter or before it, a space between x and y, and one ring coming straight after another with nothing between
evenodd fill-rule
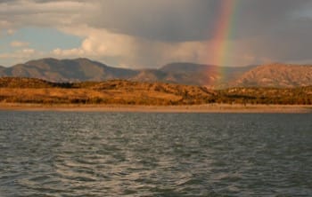
<instances>
[{"instance_id":1,"label":"broad gray-green mountain at far left, below the blue sky patch","mask_svg":"<svg viewBox=\"0 0 312 197\"><path fill-rule=\"evenodd\" d=\"M51 82L102 81L128 78L138 72L108 67L90 59L37 59L4 69L6 76L40 78Z\"/></svg>"}]
</instances>

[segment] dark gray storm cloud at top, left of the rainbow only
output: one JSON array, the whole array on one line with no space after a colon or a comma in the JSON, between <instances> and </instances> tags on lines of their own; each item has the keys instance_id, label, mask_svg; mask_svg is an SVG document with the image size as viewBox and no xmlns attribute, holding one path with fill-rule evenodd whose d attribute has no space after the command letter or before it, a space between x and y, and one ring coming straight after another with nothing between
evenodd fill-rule
<instances>
[{"instance_id":1,"label":"dark gray storm cloud at top, left of the rainbow only","mask_svg":"<svg viewBox=\"0 0 312 197\"><path fill-rule=\"evenodd\" d=\"M87 20L96 28L166 42L203 40L209 36L217 1L104 1Z\"/></svg>"}]
</instances>

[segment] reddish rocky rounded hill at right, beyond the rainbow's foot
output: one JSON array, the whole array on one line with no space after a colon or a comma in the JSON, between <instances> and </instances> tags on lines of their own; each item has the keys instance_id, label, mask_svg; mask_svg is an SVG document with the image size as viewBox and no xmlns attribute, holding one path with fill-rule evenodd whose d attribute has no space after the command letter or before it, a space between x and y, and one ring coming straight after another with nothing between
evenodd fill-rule
<instances>
[{"instance_id":1,"label":"reddish rocky rounded hill at right, beyond the rainbow's foot","mask_svg":"<svg viewBox=\"0 0 312 197\"><path fill-rule=\"evenodd\" d=\"M237 79L239 87L300 87L312 85L312 66L269 64L255 67Z\"/></svg>"}]
</instances>

